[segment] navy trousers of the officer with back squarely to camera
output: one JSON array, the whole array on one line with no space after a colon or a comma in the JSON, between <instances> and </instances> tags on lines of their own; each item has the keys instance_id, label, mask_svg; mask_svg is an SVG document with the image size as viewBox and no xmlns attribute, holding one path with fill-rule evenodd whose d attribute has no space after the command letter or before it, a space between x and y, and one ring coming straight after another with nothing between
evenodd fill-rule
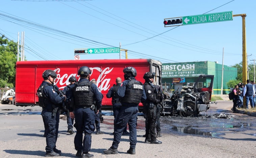
<instances>
[{"instance_id":1,"label":"navy trousers of the officer with back squarely to camera","mask_svg":"<svg viewBox=\"0 0 256 158\"><path fill-rule=\"evenodd\" d=\"M74 110L76 135L75 149L87 153L91 150L92 132L95 130L95 113L91 108L78 107ZM83 138L84 132L84 138Z\"/></svg>"}]
</instances>

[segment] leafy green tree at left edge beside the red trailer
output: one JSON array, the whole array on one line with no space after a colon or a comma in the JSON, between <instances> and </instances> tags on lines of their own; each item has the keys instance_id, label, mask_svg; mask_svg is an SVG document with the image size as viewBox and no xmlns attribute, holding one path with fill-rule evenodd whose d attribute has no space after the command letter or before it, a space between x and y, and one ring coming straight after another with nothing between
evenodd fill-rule
<instances>
[{"instance_id":1,"label":"leafy green tree at left edge beside the red trailer","mask_svg":"<svg viewBox=\"0 0 256 158\"><path fill-rule=\"evenodd\" d=\"M17 43L0 37L0 87L15 86Z\"/></svg>"}]
</instances>

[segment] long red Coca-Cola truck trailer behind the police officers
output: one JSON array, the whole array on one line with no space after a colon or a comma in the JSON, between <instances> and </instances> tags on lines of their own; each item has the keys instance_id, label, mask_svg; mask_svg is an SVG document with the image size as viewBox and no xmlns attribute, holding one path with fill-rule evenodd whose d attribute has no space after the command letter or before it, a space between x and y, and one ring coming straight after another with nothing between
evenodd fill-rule
<instances>
[{"instance_id":1,"label":"long red Coca-Cola truck trailer behind the police officers","mask_svg":"<svg viewBox=\"0 0 256 158\"><path fill-rule=\"evenodd\" d=\"M106 94L116 78L124 78L123 69L134 67L137 70L137 80L145 82L143 75L146 72L155 72L155 82L161 84L161 62L153 59L116 59L116 60L64 60L64 61L19 61L16 63L16 106L36 106L38 104L37 88L43 81L42 73L51 69L57 74L55 84L63 89L69 84L69 78L75 76L79 80L77 72L80 67L87 66L91 69L90 80L95 79L97 86L103 94L102 110L112 107L111 98ZM142 107L140 103L139 107ZM139 108L140 111L142 108Z\"/></svg>"}]
</instances>

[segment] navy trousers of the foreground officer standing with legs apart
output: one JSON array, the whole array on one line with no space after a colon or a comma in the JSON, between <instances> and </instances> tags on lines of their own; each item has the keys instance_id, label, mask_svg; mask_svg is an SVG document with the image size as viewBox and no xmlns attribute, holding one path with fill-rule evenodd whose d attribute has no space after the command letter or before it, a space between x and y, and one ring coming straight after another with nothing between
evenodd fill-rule
<instances>
[{"instance_id":1,"label":"navy trousers of the foreground officer standing with legs apart","mask_svg":"<svg viewBox=\"0 0 256 158\"><path fill-rule=\"evenodd\" d=\"M124 131L124 128L129 125L130 131L130 148L135 149L137 143L137 115L138 107L137 106L121 106L119 113L116 118L116 125L114 127L114 140L111 148L117 149L121 140L121 135Z\"/></svg>"}]
</instances>

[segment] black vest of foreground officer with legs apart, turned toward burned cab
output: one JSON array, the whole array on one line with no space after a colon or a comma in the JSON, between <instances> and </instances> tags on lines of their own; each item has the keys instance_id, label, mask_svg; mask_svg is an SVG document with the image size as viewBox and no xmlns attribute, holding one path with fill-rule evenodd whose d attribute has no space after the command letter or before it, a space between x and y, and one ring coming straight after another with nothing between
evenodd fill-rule
<instances>
[{"instance_id":1,"label":"black vest of foreground officer with legs apart, turned toward burned cab","mask_svg":"<svg viewBox=\"0 0 256 158\"><path fill-rule=\"evenodd\" d=\"M125 95L122 97L121 103L139 104L143 93L143 84L135 79L130 80L126 86Z\"/></svg>"}]
</instances>

